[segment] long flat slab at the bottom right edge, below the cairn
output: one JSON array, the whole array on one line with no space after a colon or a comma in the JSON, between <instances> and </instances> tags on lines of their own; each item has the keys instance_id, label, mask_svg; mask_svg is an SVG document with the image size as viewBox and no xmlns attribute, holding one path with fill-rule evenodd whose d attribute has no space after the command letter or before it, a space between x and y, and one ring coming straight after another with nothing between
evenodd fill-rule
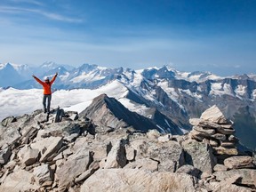
<instances>
[{"instance_id":1,"label":"long flat slab at the bottom right edge, below the cairn","mask_svg":"<svg viewBox=\"0 0 256 192\"><path fill-rule=\"evenodd\" d=\"M229 170L227 172L214 172L213 175L216 177L216 180L228 180L234 175L240 175L241 180L236 180L235 184L244 185L249 187L255 187L256 179L256 170L252 169L236 169Z\"/></svg>"}]
</instances>

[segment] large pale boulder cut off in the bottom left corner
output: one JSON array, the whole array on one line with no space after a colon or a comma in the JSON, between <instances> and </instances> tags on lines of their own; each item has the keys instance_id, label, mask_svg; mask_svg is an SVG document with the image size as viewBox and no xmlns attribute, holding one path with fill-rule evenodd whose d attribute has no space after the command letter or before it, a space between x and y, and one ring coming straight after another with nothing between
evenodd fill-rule
<instances>
[{"instance_id":1,"label":"large pale boulder cut off in the bottom left corner","mask_svg":"<svg viewBox=\"0 0 256 192\"><path fill-rule=\"evenodd\" d=\"M32 180L33 173L17 168L5 178L4 182L0 185L0 191L36 191L40 186L33 183Z\"/></svg>"}]
</instances>

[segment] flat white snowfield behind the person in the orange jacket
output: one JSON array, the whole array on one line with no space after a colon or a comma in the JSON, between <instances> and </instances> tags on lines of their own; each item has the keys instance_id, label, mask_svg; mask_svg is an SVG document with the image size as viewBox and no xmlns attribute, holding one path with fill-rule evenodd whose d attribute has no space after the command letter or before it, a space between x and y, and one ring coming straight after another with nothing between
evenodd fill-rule
<instances>
[{"instance_id":1,"label":"flat white snowfield behind the person in the orange jacket","mask_svg":"<svg viewBox=\"0 0 256 192\"><path fill-rule=\"evenodd\" d=\"M52 93L52 108L65 108L78 113L90 105L92 99L106 93L108 97L124 98L127 88L118 81L100 87L97 90L76 89L60 90ZM7 89L0 92L0 120L6 116L20 116L32 113L38 108L43 108L43 90L17 90Z\"/></svg>"}]
</instances>

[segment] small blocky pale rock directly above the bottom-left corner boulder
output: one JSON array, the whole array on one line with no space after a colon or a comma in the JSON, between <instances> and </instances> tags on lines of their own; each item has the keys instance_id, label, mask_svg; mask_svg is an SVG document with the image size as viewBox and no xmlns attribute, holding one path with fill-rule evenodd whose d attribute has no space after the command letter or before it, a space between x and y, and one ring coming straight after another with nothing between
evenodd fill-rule
<instances>
[{"instance_id":1,"label":"small blocky pale rock directly above the bottom-left corner boulder","mask_svg":"<svg viewBox=\"0 0 256 192\"><path fill-rule=\"evenodd\" d=\"M28 145L20 149L18 157L21 164L29 166L35 164L39 156L39 150L37 148L29 148Z\"/></svg>"}]
</instances>

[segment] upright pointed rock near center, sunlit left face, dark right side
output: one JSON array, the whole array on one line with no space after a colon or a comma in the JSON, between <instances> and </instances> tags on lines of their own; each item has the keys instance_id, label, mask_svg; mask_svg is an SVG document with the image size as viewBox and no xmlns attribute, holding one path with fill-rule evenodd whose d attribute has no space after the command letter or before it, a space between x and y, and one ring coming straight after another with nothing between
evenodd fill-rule
<instances>
[{"instance_id":1,"label":"upright pointed rock near center, sunlit left face, dark right side","mask_svg":"<svg viewBox=\"0 0 256 192\"><path fill-rule=\"evenodd\" d=\"M127 159L125 155L124 141L118 140L108 153L104 168L122 168L125 164L127 164Z\"/></svg>"}]
</instances>

